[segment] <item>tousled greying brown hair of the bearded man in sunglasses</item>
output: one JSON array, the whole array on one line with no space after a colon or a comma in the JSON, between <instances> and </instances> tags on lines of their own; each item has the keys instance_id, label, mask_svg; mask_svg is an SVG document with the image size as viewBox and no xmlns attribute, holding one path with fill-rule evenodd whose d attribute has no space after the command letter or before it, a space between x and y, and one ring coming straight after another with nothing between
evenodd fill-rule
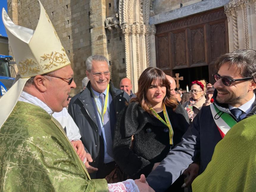
<instances>
[{"instance_id":1,"label":"tousled greying brown hair of the bearded man in sunglasses","mask_svg":"<svg viewBox=\"0 0 256 192\"><path fill-rule=\"evenodd\" d=\"M229 63L229 67L235 65L240 71L242 77L252 77L256 71L256 51L253 49L238 49L231 53L221 55L216 60L216 68Z\"/></svg>"}]
</instances>

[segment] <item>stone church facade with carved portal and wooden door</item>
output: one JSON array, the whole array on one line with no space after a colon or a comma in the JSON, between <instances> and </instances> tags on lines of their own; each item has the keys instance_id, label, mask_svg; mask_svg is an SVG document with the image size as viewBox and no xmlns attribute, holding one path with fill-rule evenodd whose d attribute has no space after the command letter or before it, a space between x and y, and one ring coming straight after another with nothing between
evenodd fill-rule
<instances>
[{"instance_id":1,"label":"stone church facade with carved portal and wooden door","mask_svg":"<svg viewBox=\"0 0 256 192\"><path fill-rule=\"evenodd\" d=\"M179 73L185 84L193 78L212 82L216 57L256 49L256 0L41 2L74 69L77 88L72 94L81 91L85 61L92 54L110 60L115 86L128 77L136 92L138 78L149 66L171 76ZM35 30L38 0L7 0L7 6L15 24Z\"/></svg>"}]
</instances>

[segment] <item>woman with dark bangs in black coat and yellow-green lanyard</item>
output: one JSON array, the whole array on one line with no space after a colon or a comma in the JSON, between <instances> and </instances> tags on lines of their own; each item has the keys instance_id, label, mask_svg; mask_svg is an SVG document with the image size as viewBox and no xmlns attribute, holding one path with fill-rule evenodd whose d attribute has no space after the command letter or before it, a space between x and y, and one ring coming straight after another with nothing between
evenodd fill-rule
<instances>
[{"instance_id":1,"label":"woman with dark bangs in black coat and yellow-green lanyard","mask_svg":"<svg viewBox=\"0 0 256 192\"><path fill-rule=\"evenodd\" d=\"M147 176L181 141L189 125L187 112L171 95L160 69L143 71L136 95L119 115L113 143L116 163L133 179ZM180 191L183 182L181 177L172 189Z\"/></svg>"}]
</instances>

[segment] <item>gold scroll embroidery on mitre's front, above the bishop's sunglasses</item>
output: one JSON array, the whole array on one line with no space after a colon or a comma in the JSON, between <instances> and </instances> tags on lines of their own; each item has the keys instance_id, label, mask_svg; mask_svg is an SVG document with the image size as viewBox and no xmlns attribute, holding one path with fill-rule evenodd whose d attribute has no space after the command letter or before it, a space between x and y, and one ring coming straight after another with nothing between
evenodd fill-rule
<instances>
[{"instance_id":1,"label":"gold scroll embroidery on mitre's front, above the bishop's sunglasses","mask_svg":"<svg viewBox=\"0 0 256 192\"><path fill-rule=\"evenodd\" d=\"M64 50L65 51L65 50ZM53 66L58 66L57 64L65 64L68 61L68 57L66 56L65 52L64 53L58 53L55 51L55 53L51 52L51 54L44 54L40 58L40 63L41 61L49 60L50 63L41 65L42 68L45 69L50 69Z\"/></svg>"}]
</instances>

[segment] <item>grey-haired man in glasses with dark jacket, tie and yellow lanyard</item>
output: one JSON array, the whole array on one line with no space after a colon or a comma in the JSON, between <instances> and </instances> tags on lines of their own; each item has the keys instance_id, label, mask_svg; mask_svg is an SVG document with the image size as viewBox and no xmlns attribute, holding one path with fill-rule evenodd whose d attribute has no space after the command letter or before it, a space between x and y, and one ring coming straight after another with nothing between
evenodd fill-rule
<instances>
[{"instance_id":1,"label":"grey-haired man in glasses with dark jacket, tie and yellow lanyard","mask_svg":"<svg viewBox=\"0 0 256 192\"><path fill-rule=\"evenodd\" d=\"M80 129L85 150L93 158L88 172L92 178L105 178L115 168L114 127L118 113L129 102L129 95L110 82L106 57L88 57L86 69L90 81L85 90L71 99L68 112Z\"/></svg>"}]
</instances>

